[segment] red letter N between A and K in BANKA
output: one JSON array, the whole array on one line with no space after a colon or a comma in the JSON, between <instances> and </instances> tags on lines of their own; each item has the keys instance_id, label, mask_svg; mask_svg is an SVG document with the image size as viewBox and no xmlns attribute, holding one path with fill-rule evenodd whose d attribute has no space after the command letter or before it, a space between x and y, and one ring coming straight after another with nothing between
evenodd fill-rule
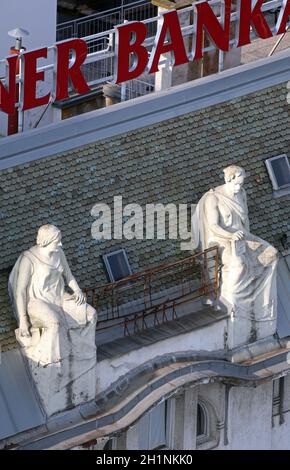
<instances>
[{"instance_id":1,"label":"red letter N between A and K in BANKA","mask_svg":"<svg viewBox=\"0 0 290 470\"><path fill-rule=\"evenodd\" d=\"M229 50L231 0L224 0L224 29L207 2L199 3L196 8L196 43L193 60L202 58L203 28L206 29L215 45L222 51Z\"/></svg>"}]
</instances>

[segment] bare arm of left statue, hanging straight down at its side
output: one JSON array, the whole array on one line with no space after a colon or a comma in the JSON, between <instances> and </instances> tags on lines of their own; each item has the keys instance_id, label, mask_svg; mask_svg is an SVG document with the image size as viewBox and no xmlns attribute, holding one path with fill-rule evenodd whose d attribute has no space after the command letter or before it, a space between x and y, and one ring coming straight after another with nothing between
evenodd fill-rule
<instances>
[{"instance_id":1,"label":"bare arm of left statue, hanging straight down at its side","mask_svg":"<svg viewBox=\"0 0 290 470\"><path fill-rule=\"evenodd\" d=\"M31 336L27 315L27 287L32 276L32 270L31 262L26 256L23 256L19 265L15 303L19 318L20 335L25 337Z\"/></svg>"}]
</instances>

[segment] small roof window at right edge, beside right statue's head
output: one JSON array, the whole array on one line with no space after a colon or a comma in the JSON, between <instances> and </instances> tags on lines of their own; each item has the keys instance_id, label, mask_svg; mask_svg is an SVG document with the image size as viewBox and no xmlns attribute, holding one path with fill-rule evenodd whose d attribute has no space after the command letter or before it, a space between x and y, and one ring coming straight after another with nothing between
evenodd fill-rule
<instances>
[{"instance_id":1,"label":"small roof window at right edge, beside right statue's head","mask_svg":"<svg viewBox=\"0 0 290 470\"><path fill-rule=\"evenodd\" d=\"M273 185L273 189L278 191L290 188L290 164L286 154L268 158L266 167Z\"/></svg>"}]
</instances>

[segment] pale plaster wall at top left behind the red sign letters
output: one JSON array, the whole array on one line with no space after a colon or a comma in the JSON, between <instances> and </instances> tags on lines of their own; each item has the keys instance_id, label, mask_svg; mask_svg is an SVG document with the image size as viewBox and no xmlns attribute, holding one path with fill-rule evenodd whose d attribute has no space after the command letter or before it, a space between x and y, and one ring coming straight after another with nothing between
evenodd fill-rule
<instances>
[{"instance_id":1,"label":"pale plaster wall at top left behind the red sign letters","mask_svg":"<svg viewBox=\"0 0 290 470\"><path fill-rule=\"evenodd\" d=\"M56 41L56 14L57 0L1 0L0 15L0 59L9 55L9 49L14 45L13 38L8 36L8 31L22 27L29 31L23 45L27 50L39 49L44 46L52 46ZM52 58L49 58L52 61ZM49 63L49 61L47 62ZM5 74L5 69L0 66L0 75ZM38 92L45 95L51 90L52 73L47 73L45 84L39 83ZM27 111L24 117L24 129L34 127L43 112L43 107ZM52 122L52 111L49 109L41 120L39 127ZM6 135L7 116L0 112L0 134Z\"/></svg>"}]
</instances>

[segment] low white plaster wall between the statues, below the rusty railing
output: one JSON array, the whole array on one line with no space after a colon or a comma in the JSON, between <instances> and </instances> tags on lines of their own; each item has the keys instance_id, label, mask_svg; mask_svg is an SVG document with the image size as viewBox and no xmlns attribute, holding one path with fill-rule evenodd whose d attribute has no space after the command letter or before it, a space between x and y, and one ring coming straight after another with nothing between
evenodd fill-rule
<instances>
[{"instance_id":1,"label":"low white plaster wall between the statues, below the rusty railing","mask_svg":"<svg viewBox=\"0 0 290 470\"><path fill-rule=\"evenodd\" d=\"M226 326L227 320L221 320L208 327L159 341L114 359L101 361L97 364L97 377L99 378L97 392L100 393L122 375L157 356L177 351L200 352L223 349Z\"/></svg>"}]
</instances>

